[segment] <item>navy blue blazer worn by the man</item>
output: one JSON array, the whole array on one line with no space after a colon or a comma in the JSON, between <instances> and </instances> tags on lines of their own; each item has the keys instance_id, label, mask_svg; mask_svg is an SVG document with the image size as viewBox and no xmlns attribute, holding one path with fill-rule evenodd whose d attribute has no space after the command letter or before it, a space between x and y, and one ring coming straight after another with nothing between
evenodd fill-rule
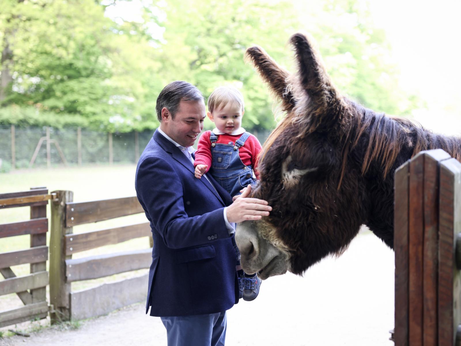
<instances>
[{"instance_id":1,"label":"navy blue blazer worn by the man","mask_svg":"<svg viewBox=\"0 0 461 346\"><path fill-rule=\"evenodd\" d=\"M151 316L211 314L238 302L234 236L223 209L231 196L159 131L136 168L136 195L150 222L154 247L146 313Z\"/></svg>"}]
</instances>

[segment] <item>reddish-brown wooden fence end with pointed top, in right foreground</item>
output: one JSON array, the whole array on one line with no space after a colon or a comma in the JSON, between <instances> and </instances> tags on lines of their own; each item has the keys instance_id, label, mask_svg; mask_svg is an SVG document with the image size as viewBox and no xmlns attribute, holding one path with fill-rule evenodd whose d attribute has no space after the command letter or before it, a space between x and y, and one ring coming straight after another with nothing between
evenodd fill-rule
<instances>
[{"instance_id":1,"label":"reddish-brown wooden fence end with pointed top, in right foreground","mask_svg":"<svg viewBox=\"0 0 461 346\"><path fill-rule=\"evenodd\" d=\"M461 163L442 149L396 170L396 346L461 345Z\"/></svg>"}]
</instances>

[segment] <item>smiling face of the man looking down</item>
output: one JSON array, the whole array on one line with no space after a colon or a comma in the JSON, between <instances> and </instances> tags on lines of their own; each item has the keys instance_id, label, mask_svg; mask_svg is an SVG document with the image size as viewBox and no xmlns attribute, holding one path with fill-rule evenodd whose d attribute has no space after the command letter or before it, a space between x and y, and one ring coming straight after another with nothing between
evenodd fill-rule
<instances>
[{"instance_id":1,"label":"smiling face of the man looking down","mask_svg":"<svg viewBox=\"0 0 461 346\"><path fill-rule=\"evenodd\" d=\"M162 131L183 147L194 145L195 139L203 130L205 103L203 101L181 101L174 119L171 118L171 113L166 113L167 116L162 113L160 123Z\"/></svg>"}]
</instances>

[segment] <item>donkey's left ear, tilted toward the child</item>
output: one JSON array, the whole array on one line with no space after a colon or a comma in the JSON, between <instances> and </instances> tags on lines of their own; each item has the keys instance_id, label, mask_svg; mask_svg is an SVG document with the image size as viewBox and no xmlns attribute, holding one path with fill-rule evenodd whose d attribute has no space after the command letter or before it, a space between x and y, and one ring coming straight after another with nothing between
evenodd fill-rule
<instances>
[{"instance_id":1,"label":"donkey's left ear, tilted toward the child","mask_svg":"<svg viewBox=\"0 0 461 346\"><path fill-rule=\"evenodd\" d=\"M247 49L245 60L251 61L264 81L270 85L274 94L282 101L283 110L291 111L295 106L295 100L287 84L290 73L278 66L269 54L258 46Z\"/></svg>"}]
</instances>

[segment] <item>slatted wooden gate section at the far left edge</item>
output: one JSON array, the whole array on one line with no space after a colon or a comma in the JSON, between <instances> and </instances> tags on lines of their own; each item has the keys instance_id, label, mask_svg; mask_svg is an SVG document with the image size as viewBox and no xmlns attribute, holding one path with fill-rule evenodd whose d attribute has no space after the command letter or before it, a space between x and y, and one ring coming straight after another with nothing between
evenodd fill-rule
<instances>
[{"instance_id":1,"label":"slatted wooden gate section at the far left edge","mask_svg":"<svg viewBox=\"0 0 461 346\"><path fill-rule=\"evenodd\" d=\"M48 316L46 188L0 194L0 209L30 206L30 220L0 224L0 238L30 234L30 249L0 253L0 295L16 293L24 306L0 311L0 327ZM30 274L17 276L12 266L30 263ZM30 290L30 292L28 291Z\"/></svg>"}]
</instances>

